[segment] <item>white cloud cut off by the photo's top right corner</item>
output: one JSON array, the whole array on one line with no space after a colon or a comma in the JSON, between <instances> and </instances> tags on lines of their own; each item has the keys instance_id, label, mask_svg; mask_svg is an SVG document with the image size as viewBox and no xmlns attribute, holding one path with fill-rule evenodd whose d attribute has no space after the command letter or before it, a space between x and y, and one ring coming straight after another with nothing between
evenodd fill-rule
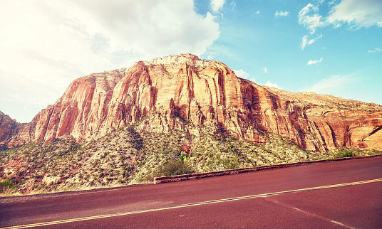
<instances>
[{"instance_id":1,"label":"white cloud cut off by the photo's top right corner","mask_svg":"<svg viewBox=\"0 0 382 229\"><path fill-rule=\"evenodd\" d=\"M382 1L342 0L331 9L327 21L334 26L348 23L354 28L382 27Z\"/></svg>"}]
</instances>

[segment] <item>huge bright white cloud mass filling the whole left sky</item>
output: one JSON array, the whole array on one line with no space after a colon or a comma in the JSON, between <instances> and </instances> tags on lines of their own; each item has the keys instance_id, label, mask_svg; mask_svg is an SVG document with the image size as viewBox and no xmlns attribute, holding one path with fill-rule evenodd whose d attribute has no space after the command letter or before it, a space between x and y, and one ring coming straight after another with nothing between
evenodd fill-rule
<instances>
[{"instance_id":1,"label":"huge bright white cloud mass filling the whole left sky","mask_svg":"<svg viewBox=\"0 0 382 229\"><path fill-rule=\"evenodd\" d=\"M201 55L220 36L215 17L197 14L192 0L0 1L0 9L1 96L17 92L38 107L83 75Z\"/></svg>"}]
</instances>

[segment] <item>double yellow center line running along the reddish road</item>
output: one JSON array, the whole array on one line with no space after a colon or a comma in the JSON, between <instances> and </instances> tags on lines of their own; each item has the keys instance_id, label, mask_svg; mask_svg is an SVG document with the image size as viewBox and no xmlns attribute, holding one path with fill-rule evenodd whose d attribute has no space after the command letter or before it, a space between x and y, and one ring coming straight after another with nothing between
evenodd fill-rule
<instances>
[{"instance_id":1,"label":"double yellow center line running along the reddish road","mask_svg":"<svg viewBox=\"0 0 382 229\"><path fill-rule=\"evenodd\" d=\"M299 192L299 191L313 191L313 190L319 190L319 189L324 189L324 188L336 188L336 187L343 187L343 186L352 186L352 185L357 185L357 184L373 183L373 182L378 182L378 181L382 181L382 179L373 179L373 180L368 180L368 181L356 181L356 182L350 182L350 183L338 183L338 184L333 184L333 185L329 185L329 186L318 186L318 187L312 187L312 188L301 188L301 189L294 189L294 190L289 190L289 191L277 191L277 192L274 192L274 193L264 193L264 194L257 194L257 195L252 195L252 196L240 196L240 197L235 197L235 198L224 198L224 199L214 200L214 201L203 201L203 202L197 202L197 203L186 203L186 204L182 204L182 205L179 205L179 206L170 206L170 207L165 207L165 208L153 208L153 209L142 210L142 211L130 211L130 212L125 212L125 213L94 215L94 216L88 216L88 217L83 217L83 218L72 218L72 219L67 219L67 220L57 220L57 221L51 221L51 222L45 222L45 223L32 223L32 224L26 224L26 225L16 225L16 226L11 226L11 227L7 227L7 228L0 228L0 229L31 228L31 227L38 227L38 226L44 226L44 225L56 225L56 224L61 224L61 223L73 223L73 222L78 222L78 221L83 221L83 220L94 220L94 219L110 218L110 217L121 216L121 215L132 215L132 214L138 214L138 213L148 213L148 212L153 212L153 211L163 211L163 210L175 209L175 208L185 208L185 207L191 207L191 206L200 206L200 205L206 205L206 204L211 204L211 203L222 203L222 202L228 202L228 201L239 201L239 200L244 200L244 199L248 199L248 198L258 198L258 197L265 197L265 196L274 196L274 195L279 195L279 194L284 194L284 193L295 193L295 192Z\"/></svg>"}]
</instances>

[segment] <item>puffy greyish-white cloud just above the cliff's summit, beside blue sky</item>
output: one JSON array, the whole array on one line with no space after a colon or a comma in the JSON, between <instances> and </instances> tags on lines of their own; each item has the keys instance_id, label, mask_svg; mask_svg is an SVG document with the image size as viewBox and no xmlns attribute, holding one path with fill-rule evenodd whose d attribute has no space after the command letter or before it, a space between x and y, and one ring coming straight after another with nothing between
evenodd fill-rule
<instances>
[{"instance_id":1,"label":"puffy greyish-white cloud just above the cliff's summit, beside blue sky","mask_svg":"<svg viewBox=\"0 0 382 229\"><path fill-rule=\"evenodd\" d=\"M200 55L219 36L215 17L196 14L193 1L67 2L54 1L52 7L63 8L61 13L88 35L105 39L111 51L125 50L153 58L178 54L180 50Z\"/></svg>"}]
</instances>

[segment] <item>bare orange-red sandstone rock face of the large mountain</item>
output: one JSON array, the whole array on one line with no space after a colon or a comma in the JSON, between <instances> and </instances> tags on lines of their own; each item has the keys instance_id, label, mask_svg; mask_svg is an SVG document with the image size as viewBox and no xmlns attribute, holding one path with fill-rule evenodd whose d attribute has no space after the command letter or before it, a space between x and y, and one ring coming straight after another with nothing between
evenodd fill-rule
<instances>
[{"instance_id":1,"label":"bare orange-red sandstone rock face of the large mountain","mask_svg":"<svg viewBox=\"0 0 382 229\"><path fill-rule=\"evenodd\" d=\"M382 149L381 106L260 86L192 54L78 78L31 123L0 122L0 141L13 147L69 134L81 142L140 119L153 132L187 129L186 121L251 142L264 142L268 131L309 150Z\"/></svg>"}]
</instances>

